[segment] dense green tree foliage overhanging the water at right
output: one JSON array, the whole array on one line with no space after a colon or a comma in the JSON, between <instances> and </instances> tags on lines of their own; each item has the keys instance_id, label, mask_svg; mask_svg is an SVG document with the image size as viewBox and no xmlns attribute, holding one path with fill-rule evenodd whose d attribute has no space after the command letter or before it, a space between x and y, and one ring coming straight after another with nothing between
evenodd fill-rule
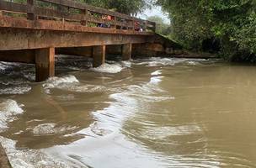
<instances>
[{"instance_id":1,"label":"dense green tree foliage overhanging the water at right","mask_svg":"<svg viewBox=\"0 0 256 168\"><path fill-rule=\"evenodd\" d=\"M211 41L227 60L256 60L255 0L157 0L157 4L169 13L173 39L187 49L203 50Z\"/></svg>"}]
</instances>

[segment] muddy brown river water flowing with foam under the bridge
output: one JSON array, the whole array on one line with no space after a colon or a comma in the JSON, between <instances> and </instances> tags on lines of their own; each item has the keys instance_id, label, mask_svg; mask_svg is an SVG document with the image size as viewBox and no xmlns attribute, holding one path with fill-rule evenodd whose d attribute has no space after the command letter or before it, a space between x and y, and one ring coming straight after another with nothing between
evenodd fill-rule
<instances>
[{"instance_id":1,"label":"muddy brown river water flowing with foam under the bridge","mask_svg":"<svg viewBox=\"0 0 256 168\"><path fill-rule=\"evenodd\" d=\"M13 168L255 167L255 66L58 55L56 76L0 63L0 142Z\"/></svg>"}]
</instances>

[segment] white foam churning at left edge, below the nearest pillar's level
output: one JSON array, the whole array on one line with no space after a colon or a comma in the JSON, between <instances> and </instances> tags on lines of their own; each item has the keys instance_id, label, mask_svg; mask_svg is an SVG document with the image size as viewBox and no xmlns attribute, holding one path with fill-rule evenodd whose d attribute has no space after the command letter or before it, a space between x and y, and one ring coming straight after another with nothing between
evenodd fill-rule
<instances>
[{"instance_id":1,"label":"white foam churning at left edge, below the nearest pillar's level","mask_svg":"<svg viewBox=\"0 0 256 168\"><path fill-rule=\"evenodd\" d=\"M15 115L21 114L24 110L16 101L8 99L5 102L0 102L0 132L7 129L8 122L15 119Z\"/></svg>"}]
</instances>

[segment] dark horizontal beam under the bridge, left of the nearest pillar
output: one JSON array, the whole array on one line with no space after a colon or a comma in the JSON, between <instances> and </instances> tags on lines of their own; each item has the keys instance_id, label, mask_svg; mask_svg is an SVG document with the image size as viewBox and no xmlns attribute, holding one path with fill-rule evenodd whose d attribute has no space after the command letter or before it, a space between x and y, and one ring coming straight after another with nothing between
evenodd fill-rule
<instances>
[{"instance_id":1,"label":"dark horizontal beam under the bridge, left of the nearest pillar","mask_svg":"<svg viewBox=\"0 0 256 168\"><path fill-rule=\"evenodd\" d=\"M35 64L35 50L0 50L0 61Z\"/></svg>"}]
</instances>

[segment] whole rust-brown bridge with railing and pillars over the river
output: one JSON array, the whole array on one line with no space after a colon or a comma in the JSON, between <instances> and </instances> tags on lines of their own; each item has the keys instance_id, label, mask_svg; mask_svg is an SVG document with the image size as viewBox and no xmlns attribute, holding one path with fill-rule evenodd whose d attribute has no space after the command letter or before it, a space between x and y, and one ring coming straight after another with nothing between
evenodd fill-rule
<instances>
[{"instance_id":1,"label":"whole rust-brown bridge with railing and pillars over the river","mask_svg":"<svg viewBox=\"0 0 256 168\"><path fill-rule=\"evenodd\" d=\"M174 55L180 46L148 20L71 0L0 0L0 61L35 64L36 81L55 75L55 55Z\"/></svg>"}]
</instances>

